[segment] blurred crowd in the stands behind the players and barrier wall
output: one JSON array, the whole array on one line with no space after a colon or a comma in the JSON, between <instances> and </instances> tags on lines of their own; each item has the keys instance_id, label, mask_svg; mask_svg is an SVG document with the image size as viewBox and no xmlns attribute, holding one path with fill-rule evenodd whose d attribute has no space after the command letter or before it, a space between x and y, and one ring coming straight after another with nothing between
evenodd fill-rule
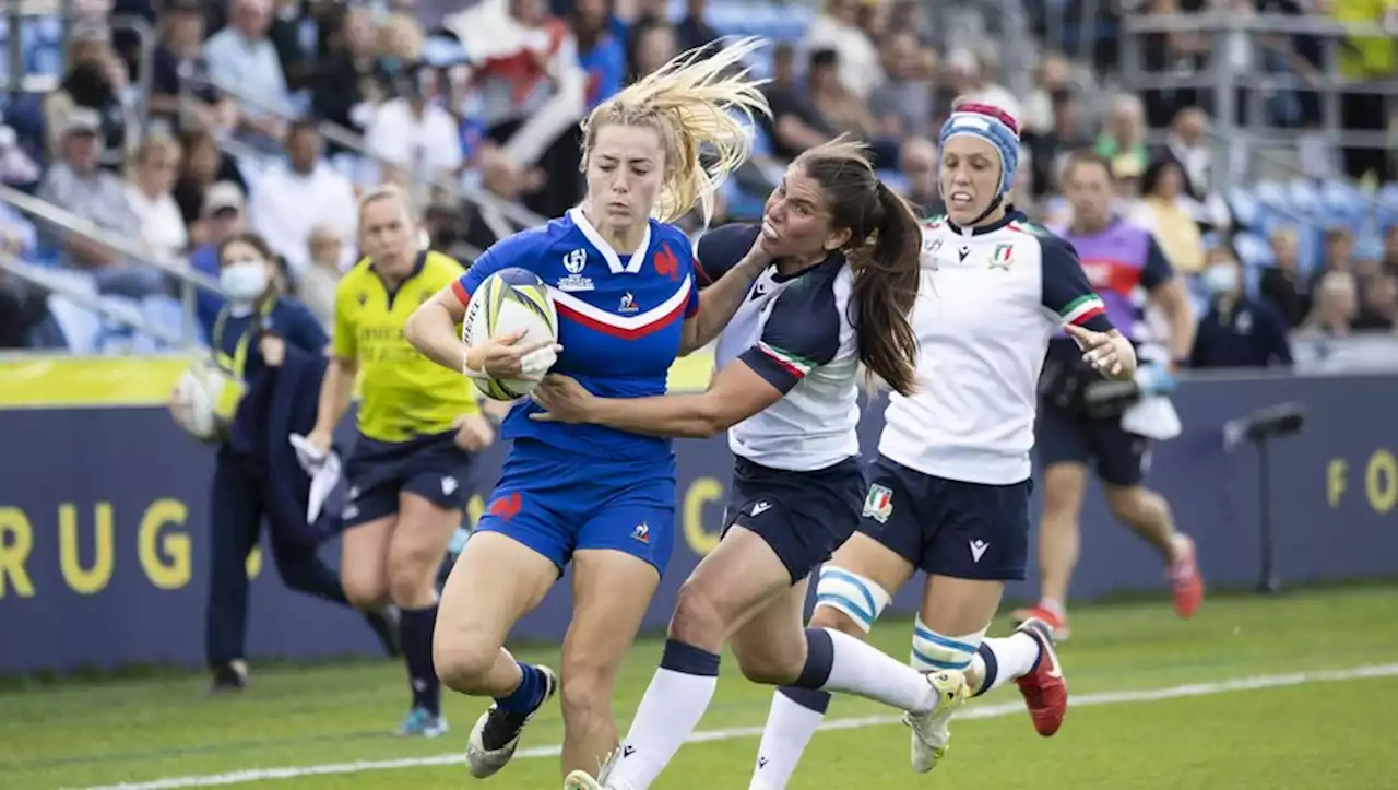
<instances>
[{"instance_id":1,"label":"blurred crowd in the stands behind the players and barrier wall","mask_svg":"<svg viewBox=\"0 0 1398 790\"><path fill-rule=\"evenodd\" d=\"M590 108L730 35L773 42L773 116L714 222L842 133L935 214L935 130L972 95L1021 120L1032 218L1071 221L1058 169L1090 148L1201 320L1251 310L1299 364L1398 358L1394 0L13 0L0 348L201 343L242 229L329 323L356 193L410 187L425 243L470 261L575 204Z\"/></svg>"}]
</instances>

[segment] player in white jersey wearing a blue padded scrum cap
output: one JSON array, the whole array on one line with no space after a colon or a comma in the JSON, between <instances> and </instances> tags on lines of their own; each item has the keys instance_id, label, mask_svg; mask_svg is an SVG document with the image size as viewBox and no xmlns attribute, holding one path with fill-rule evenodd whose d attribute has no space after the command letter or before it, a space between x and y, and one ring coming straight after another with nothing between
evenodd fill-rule
<instances>
[{"instance_id":1,"label":"player in white jersey wearing a blue padded scrum cap","mask_svg":"<svg viewBox=\"0 0 1398 790\"><path fill-rule=\"evenodd\" d=\"M1135 354L1072 247L1009 204L1018 159L1016 123L998 108L960 103L942 126L946 215L923 229L917 392L889 396L858 533L822 568L811 625L864 638L923 570L913 667L962 671L972 695L1015 680L1035 728L1051 735L1068 687L1047 626L1029 619L1007 638L984 638L1005 582L1025 577L1039 369L1060 326L1110 378L1130 379ZM777 691L752 790L786 787L829 699ZM914 770L945 755L953 710L914 731Z\"/></svg>"}]
</instances>

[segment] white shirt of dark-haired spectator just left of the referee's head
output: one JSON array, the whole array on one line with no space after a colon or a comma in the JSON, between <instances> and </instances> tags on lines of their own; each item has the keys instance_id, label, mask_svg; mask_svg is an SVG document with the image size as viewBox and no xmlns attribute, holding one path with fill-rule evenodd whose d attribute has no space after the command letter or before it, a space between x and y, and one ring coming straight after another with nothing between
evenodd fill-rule
<instances>
[{"instance_id":1,"label":"white shirt of dark-haired spectator just left of the referee's head","mask_svg":"<svg viewBox=\"0 0 1398 790\"><path fill-rule=\"evenodd\" d=\"M289 165L274 165L250 187L247 221L271 249L287 259L298 278L310 263L310 231L327 225L345 242L344 254L354 254L359 208L354 185L334 168L319 162L310 173Z\"/></svg>"}]
</instances>

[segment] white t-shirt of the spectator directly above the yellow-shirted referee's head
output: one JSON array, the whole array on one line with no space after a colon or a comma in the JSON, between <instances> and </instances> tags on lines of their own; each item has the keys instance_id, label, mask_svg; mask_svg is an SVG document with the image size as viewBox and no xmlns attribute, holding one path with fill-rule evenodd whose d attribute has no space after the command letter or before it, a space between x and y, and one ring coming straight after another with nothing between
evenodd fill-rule
<instances>
[{"instance_id":1,"label":"white t-shirt of the spectator directly above the yellow-shirted referee's head","mask_svg":"<svg viewBox=\"0 0 1398 790\"><path fill-rule=\"evenodd\" d=\"M403 98L379 106L365 131L365 147L376 159L411 173L449 175L463 162L461 138L452 113L429 103L418 116Z\"/></svg>"}]
</instances>

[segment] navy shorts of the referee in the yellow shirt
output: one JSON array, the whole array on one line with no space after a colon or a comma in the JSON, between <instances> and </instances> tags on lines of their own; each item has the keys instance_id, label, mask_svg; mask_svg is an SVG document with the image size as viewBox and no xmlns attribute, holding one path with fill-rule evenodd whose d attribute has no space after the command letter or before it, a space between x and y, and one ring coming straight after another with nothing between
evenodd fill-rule
<instances>
[{"instance_id":1,"label":"navy shorts of the referee in the yellow shirt","mask_svg":"<svg viewBox=\"0 0 1398 790\"><path fill-rule=\"evenodd\" d=\"M471 460L471 453L456 445L456 431L407 442L379 442L361 433L345 461L344 526L397 513L403 492L447 510L466 509Z\"/></svg>"}]
</instances>

